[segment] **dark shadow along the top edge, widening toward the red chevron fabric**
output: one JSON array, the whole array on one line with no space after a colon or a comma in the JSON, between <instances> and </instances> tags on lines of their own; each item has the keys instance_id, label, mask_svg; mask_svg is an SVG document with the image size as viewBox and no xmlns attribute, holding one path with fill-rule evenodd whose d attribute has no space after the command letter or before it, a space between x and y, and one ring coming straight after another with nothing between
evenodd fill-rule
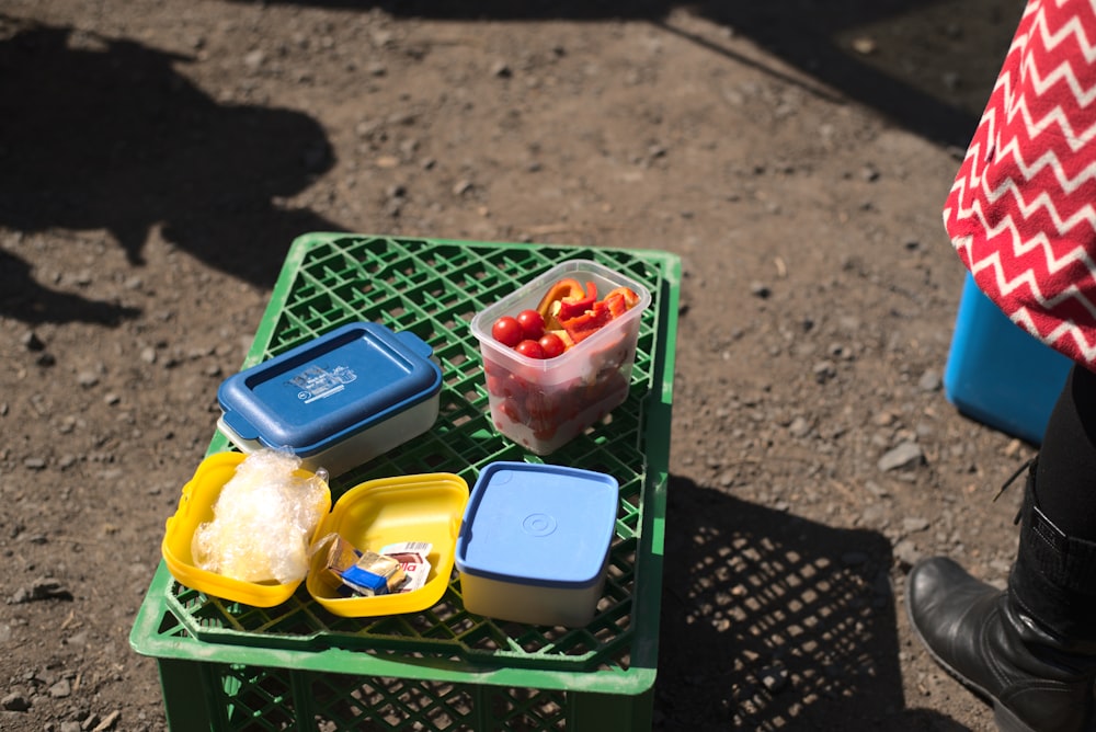
<instances>
[{"instance_id":1,"label":"dark shadow along the top edge, widening toward the red chevron fabric","mask_svg":"<svg viewBox=\"0 0 1096 732\"><path fill-rule=\"evenodd\" d=\"M1007 0L236 0L344 10L377 7L400 18L461 21L608 19L647 20L733 62L788 78L722 44L682 32L669 22L685 11L745 36L821 85L877 110L926 139L966 147L1023 3ZM865 45L867 44L867 45ZM819 91L819 84L808 84Z\"/></svg>"}]
</instances>

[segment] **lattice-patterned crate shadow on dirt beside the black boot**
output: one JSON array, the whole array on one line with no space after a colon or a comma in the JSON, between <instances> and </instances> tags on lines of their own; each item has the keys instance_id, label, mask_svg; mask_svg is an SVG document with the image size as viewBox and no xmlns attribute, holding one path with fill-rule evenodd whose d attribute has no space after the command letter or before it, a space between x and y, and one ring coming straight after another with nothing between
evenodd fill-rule
<instances>
[{"instance_id":1,"label":"lattice-patterned crate shadow on dirt beside the black boot","mask_svg":"<svg viewBox=\"0 0 1096 732\"><path fill-rule=\"evenodd\" d=\"M671 477L661 729L962 729L904 708L891 562L876 531Z\"/></svg>"}]
</instances>

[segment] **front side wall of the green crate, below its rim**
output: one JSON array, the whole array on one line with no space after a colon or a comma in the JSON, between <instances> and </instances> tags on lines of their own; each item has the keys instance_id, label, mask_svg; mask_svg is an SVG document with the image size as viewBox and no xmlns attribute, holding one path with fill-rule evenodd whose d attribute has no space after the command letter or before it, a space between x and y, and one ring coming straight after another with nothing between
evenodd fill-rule
<instances>
[{"instance_id":1,"label":"front side wall of the green crate, below its rim","mask_svg":"<svg viewBox=\"0 0 1096 732\"><path fill-rule=\"evenodd\" d=\"M170 660L159 670L180 731L649 730L653 708L653 688L619 696Z\"/></svg>"}]
</instances>

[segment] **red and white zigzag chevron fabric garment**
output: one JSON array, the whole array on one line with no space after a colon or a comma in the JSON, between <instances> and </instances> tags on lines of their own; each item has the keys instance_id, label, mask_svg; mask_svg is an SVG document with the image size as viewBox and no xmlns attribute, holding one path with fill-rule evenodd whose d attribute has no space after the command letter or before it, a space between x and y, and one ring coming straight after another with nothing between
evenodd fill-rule
<instances>
[{"instance_id":1,"label":"red and white zigzag chevron fabric garment","mask_svg":"<svg viewBox=\"0 0 1096 732\"><path fill-rule=\"evenodd\" d=\"M1096 0L1030 0L944 208L979 288L1096 370Z\"/></svg>"}]
</instances>

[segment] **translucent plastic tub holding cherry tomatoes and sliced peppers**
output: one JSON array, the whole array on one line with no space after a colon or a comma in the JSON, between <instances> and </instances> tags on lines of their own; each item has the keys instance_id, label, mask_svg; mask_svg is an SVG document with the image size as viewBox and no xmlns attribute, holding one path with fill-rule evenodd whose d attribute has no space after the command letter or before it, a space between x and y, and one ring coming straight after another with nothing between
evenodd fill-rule
<instances>
[{"instance_id":1,"label":"translucent plastic tub holding cherry tomatoes and sliced peppers","mask_svg":"<svg viewBox=\"0 0 1096 732\"><path fill-rule=\"evenodd\" d=\"M600 295L628 287L639 301L555 358L530 358L491 334L503 316L536 309L552 285L572 278ZM602 420L628 397L636 343L651 294L636 281L589 260L562 262L472 318L487 377L491 420L506 437L549 455Z\"/></svg>"}]
</instances>

